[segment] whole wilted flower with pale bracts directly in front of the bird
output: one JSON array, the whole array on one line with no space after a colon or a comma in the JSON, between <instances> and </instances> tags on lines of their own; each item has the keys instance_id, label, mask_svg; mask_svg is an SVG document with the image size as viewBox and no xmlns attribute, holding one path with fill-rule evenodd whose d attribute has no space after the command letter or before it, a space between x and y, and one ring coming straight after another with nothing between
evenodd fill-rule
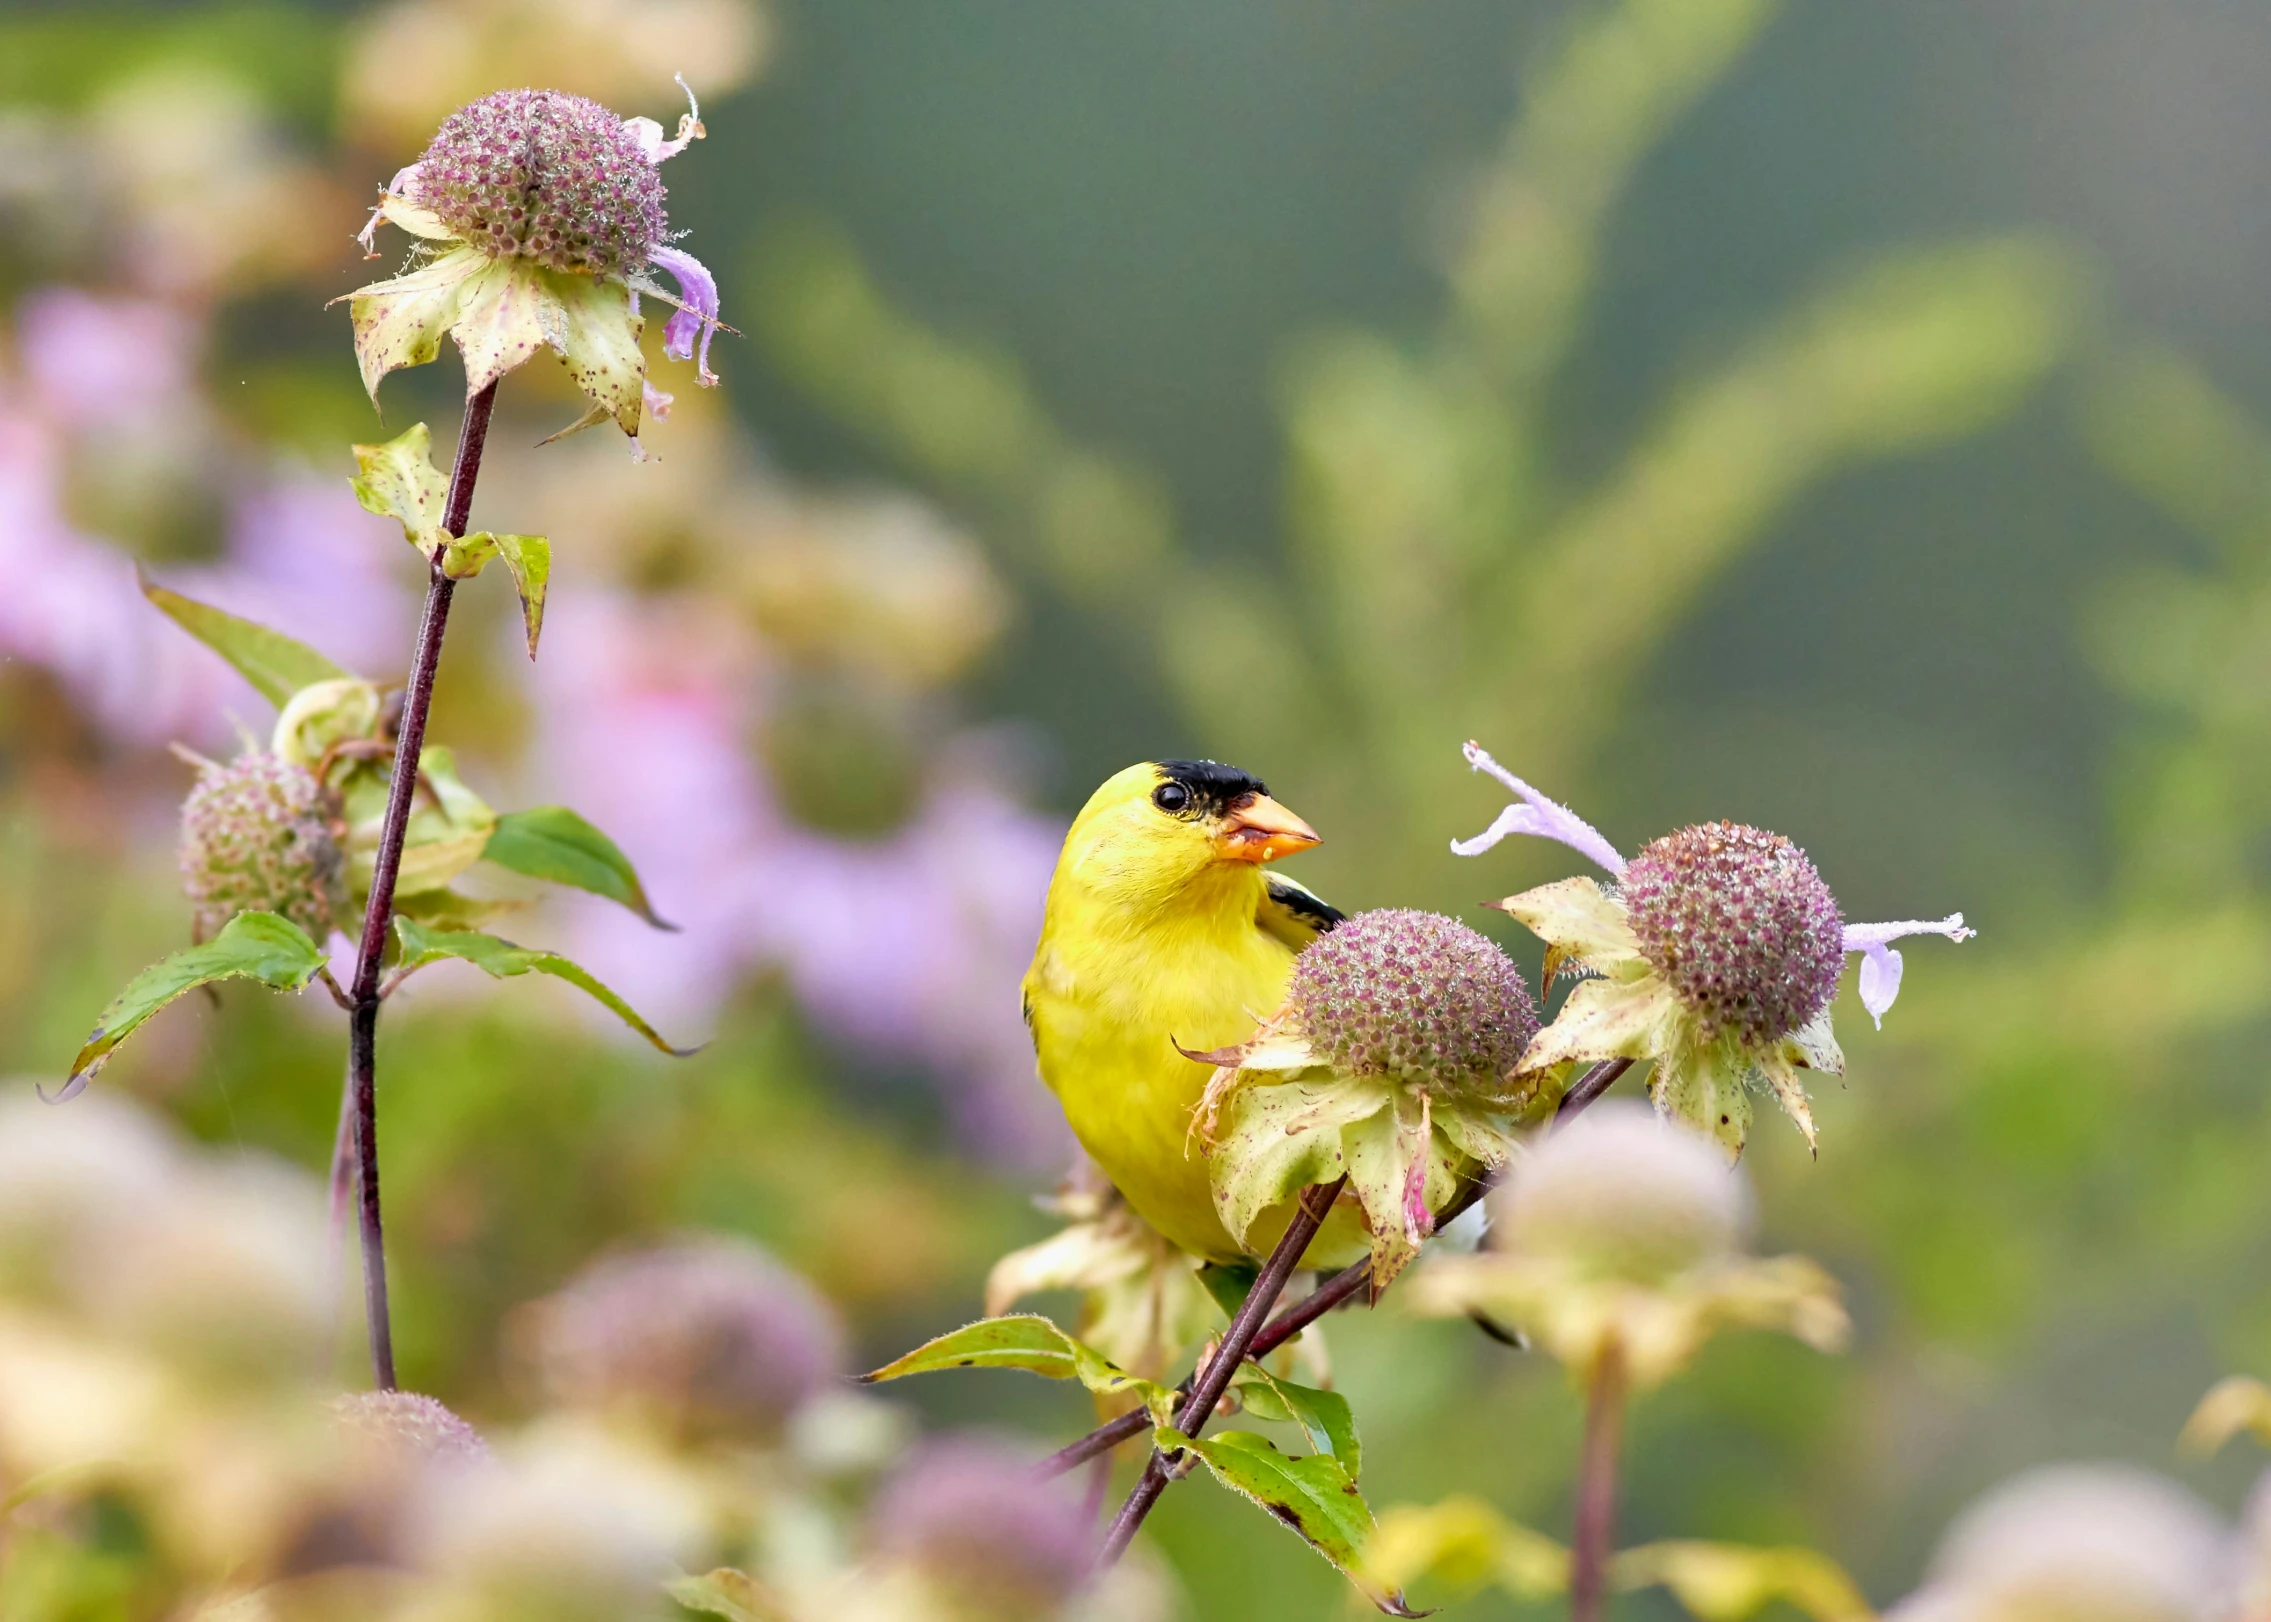
<instances>
[{"instance_id":1,"label":"whole wilted flower with pale bracts directly in front of the bird","mask_svg":"<svg viewBox=\"0 0 2271 1622\"><path fill-rule=\"evenodd\" d=\"M1285 1006L1217 1065L1192 1120L1215 1211L1247 1240L1308 1184L1347 1174L1372 1229L1374 1288L1435 1215L1508 1152L1537 1102L1524 1050L1537 1006L1522 970L1456 918L1358 913L1294 959Z\"/></svg>"}]
</instances>

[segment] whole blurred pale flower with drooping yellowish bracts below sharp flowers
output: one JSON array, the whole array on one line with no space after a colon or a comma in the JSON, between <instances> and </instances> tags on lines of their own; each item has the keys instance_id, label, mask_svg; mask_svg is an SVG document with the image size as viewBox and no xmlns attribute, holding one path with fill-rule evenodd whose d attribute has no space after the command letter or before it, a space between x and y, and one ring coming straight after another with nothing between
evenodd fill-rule
<instances>
[{"instance_id":1,"label":"whole blurred pale flower with drooping yellowish bracts below sharp flowers","mask_svg":"<svg viewBox=\"0 0 2271 1622\"><path fill-rule=\"evenodd\" d=\"M1483 1313L1592 1374L1676 1372L1721 1327L1833 1352L1849 1322L1803 1256L1744 1254L1749 1193L1710 1143L1642 1104L1603 1102L1544 1136L1492 1193L1497 1249L1438 1256L1410 1284L1426 1313Z\"/></svg>"}]
</instances>

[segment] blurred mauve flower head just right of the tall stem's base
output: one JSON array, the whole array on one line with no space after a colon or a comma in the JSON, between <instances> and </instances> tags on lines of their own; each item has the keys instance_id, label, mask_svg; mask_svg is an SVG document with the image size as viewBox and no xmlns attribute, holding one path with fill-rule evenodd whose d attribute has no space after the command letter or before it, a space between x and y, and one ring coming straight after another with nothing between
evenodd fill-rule
<instances>
[{"instance_id":1,"label":"blurred mauve flower head just right of the tall stem's base","mask_svg":"<svg viewBox=\"0 0 2271 1622\"><path fill-rule=\"evenodd\" d=\"M756 1245L690 1238L584 1270L529 1311L529 1349L563 1404L763 1440L838 1374L843 1329Z\"/></svg>"}]
</instances>

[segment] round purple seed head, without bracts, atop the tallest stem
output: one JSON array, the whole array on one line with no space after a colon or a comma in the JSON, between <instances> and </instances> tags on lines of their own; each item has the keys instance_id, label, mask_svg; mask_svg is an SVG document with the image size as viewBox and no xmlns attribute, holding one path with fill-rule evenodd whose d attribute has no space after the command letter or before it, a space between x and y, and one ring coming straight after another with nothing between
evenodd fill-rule
<instances>
[{"instance_id":1,"label":"round purple seed head, without bracts, atop the tallest stem","mask_svg":"<svg viewBox=\"0 0 2271 1622\"><path fill-rule=\"evenodd\" d=\"M663 177L600 102L497 91L450 114L413 200L493 259L629 275L663 241Z\"/></svg>"}]
</instances>

